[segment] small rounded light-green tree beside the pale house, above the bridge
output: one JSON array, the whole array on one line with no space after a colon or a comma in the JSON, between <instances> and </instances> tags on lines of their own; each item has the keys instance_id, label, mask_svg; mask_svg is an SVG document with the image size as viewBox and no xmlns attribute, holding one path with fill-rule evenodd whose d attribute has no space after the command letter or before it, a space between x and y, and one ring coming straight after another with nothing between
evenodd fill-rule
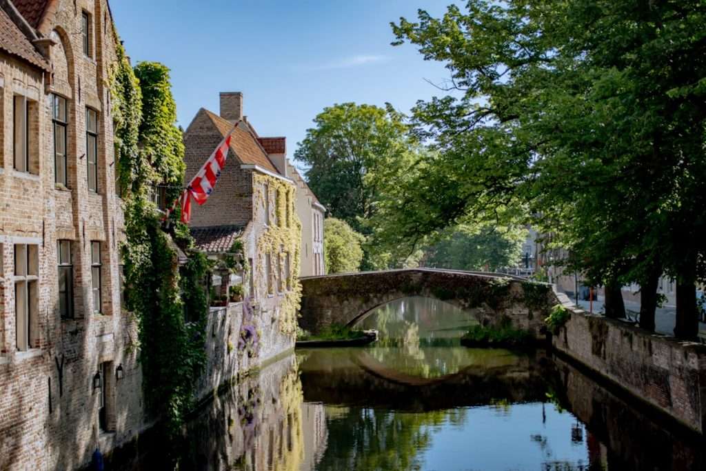
<instances>
[{"instance_id":1,"label":"small rounded light-green tree beside the pale house, above the bridge","mask_svg":"<svg viewBox=\"0 0 706 471\"><path fill-rule=\"evenodd\" d=\"M328 217L323 222L324 263L327 273L358 271L363 260L361 244L365 238L347 222Z\"/></svg>"}]
</instances>

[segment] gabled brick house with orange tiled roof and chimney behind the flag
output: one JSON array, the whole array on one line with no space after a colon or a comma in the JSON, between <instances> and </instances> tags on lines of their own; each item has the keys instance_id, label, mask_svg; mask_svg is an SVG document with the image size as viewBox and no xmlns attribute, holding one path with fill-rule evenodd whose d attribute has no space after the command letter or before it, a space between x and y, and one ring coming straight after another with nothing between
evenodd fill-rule
<instances>
[{"instance_id":1,"label":"gabled brick house with orange tiled roof and chimney behind the flag","mask_svg":"<svg viewBox=\"0 0 706 471\"><path fill-rule=\"evenodd\" d=\"M311 265L314 246L318 244L320 254L323 249L313 231L313 204L318 202L301 178L297 181L289 174L285 138L258 136L244 117L242 93L221 93L220 114L202 108L189 124L184 133L186 181L232 129L225 168L208 201L194 205L190 227L197 247L212 256L229 251L236 239L243 242L251 267L243 280L246 297L256 302L261 325L280 324L279 329L262 329L263 335L270 335L262 344L271 345L261 352L261 359L267 359L293 346L298 276L305 273L299 267ZM299 195L306 191L309 203L301 213ZM321 222L323 218L316 223L319 230ZM311 240L302 243L301 234ZM321 263L323 268L323 257Z\"/></svg>"}]
</instances>

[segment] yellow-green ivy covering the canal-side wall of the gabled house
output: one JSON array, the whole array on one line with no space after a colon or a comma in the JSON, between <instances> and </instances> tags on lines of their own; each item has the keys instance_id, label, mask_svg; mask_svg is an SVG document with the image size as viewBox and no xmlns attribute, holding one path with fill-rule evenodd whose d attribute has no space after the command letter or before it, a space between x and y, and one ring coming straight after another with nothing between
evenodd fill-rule
<instances>
[{"instance_id":1,"label":"yellow-green ivy covering the canal-side wall of the gabled house","mask_svg":"<svg viewBox=\"0 0 706 471\"><path fill-rule=\"evenodd\" d=\"M276 222L268 226L265 233L258 237L257 251L260 254L258 258L258 268L256 273L265 273L263 265L265 263L265 254L270 254L270 260L273 263L273 269L269 270L270 282L274 287L277 286L275 271L277 267L282 267L284 271L285 257L289 253L289 273L285 273L285 278L282 279L284 285L284 299L280 303L280 332L285 335L291 335L292 338L297 334L297 312L299 311L299 302L301 301L301 283L299 282L299 252L301 250L301 222L299 217L292 209L294 204L295 188L292 184L270 177L269 175L253 174L253 184L255 186L256 204L261 208L266 208L265 205L265 188L269 189L270 196L277 195L275 205ZM289 205L289 209L287 206ZM284 251L282 251L284 247ZM280 257L277 264L277 257ZM279 276L282 276L280 273ZM266 282L266 280L265 280Z\"/></svg>"}]
</instances>

